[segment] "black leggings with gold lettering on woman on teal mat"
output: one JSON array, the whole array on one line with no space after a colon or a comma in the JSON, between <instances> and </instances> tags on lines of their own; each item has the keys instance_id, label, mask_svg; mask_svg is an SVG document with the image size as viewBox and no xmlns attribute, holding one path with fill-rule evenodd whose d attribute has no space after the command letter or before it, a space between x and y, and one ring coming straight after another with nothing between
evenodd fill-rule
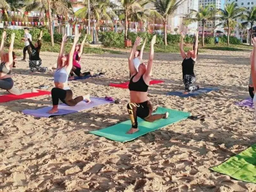
<instances>
[{"instance_id":1,"label":"black leggings with gold lettering on woman on teal mat","mask_svg":"<svg viewBox=\"0 0 256 192\"><path fill-rule=\"evenodd\" d=\"M148 122L154 122L158 119L163 119L165 114L151 115L153 108L149 101L142 103L128 103L128 113L132 122L132 128L138 128L137 116Z\"/></svg>"}]
</instances>

